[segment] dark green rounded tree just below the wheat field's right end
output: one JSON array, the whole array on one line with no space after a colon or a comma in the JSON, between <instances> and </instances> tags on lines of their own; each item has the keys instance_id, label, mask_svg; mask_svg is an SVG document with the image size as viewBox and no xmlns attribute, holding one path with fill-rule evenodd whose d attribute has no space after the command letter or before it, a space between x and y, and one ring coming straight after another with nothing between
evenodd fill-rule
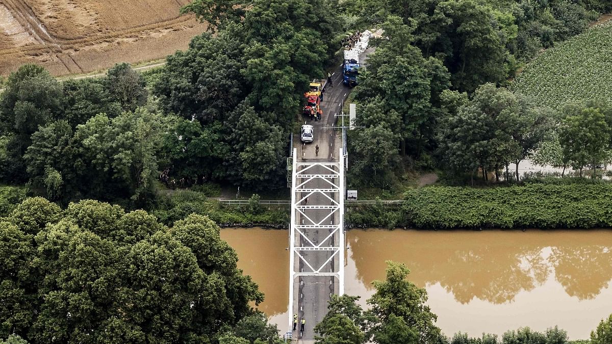
<instances>
[{"instance_id":1,"label":"dark green rounded tree just below the wheat field's right end","mask_svg":"<svg viewBox=\"0 0 612 344\"><path fill-rule=\"evenodd\" d=\"M154 93L168 113L207 125L225 121L247 95L241 74L244 35L231 26L213 37L193 37L187 51L168 56Z\"/></svg>"}]
</instances>

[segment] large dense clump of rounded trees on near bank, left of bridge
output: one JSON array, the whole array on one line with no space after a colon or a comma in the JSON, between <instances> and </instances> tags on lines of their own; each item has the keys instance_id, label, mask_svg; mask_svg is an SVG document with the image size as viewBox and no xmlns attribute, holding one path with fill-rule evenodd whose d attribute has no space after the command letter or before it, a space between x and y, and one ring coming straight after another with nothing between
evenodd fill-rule
<instances>
[{"instance_id":1,"label":"large dense clump of rounded trees on near bank, left of bridge","mask_svg":"<svg viewBox=\"0 0 612 344\"><path fill-rule=\"evenodd\" d=\"M248 318L249 302L263 294L206 217L166 228L147 212L99 201L70 203L62 213L30 198L0 232L2 337L208 342L223 326L250 324L259 338L275 340L261 315Z\"/></svg>"}]
</instances>

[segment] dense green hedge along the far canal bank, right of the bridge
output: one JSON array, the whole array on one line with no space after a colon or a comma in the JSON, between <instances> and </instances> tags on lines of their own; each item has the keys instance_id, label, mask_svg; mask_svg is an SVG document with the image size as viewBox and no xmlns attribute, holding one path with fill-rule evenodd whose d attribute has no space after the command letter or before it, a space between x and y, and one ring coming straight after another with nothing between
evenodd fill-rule
<instances>
[{"instance_id":1,"label":"dense green hedge along the far canal bank, right of the bridge","mask_svg":"<svg viewBox=\"0 0 612 344\"><path fill-rule=\"evenodd\" d=\"M401 208L348 209L348 226L437 228L611 228L612 184L426 187Z\"/></svg>"}]
</instances>

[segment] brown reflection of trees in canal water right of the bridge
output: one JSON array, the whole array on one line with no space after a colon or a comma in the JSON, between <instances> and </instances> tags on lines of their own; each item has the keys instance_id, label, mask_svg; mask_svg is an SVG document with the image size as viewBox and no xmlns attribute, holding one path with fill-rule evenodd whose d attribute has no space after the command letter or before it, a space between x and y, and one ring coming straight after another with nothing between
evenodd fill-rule
<instances>
[{"instance_id":1,"label":"brown reflection of trees in canal water right of the bridge","mask_svg":"<svg viewBox=\"0 0 612 344\"><path fill-rule=\"evenodd\" d=\"M357 278L381 279L384 261L406 263L420 286L440 283L458 302L500 304L547 281L551 272L578 299L612 279L610 231L349 232ZM552 276L551 276L552 277Z\"/></svg>"}]
</instances>

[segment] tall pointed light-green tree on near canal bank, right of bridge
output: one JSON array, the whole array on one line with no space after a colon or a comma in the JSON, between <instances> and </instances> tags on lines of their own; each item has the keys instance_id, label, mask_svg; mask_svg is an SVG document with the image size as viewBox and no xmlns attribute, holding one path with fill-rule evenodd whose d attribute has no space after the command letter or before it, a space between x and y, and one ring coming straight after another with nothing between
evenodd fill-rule
<instances>
[{"instance_id":1,"label":"tall pointed light-green tree on near canal bank, right of bridge","mask_svg":"<svg viewBox=\"0 0 612 344\"><path fill-rule=\"evenodd\" d=\"M392 316L400 317L409 329L418 335L419 343L435 342L441 332L434 324L437 316L425 304L427 291L406 280L410 270L405 264L392 261L386 263L386 280L372 282L376 293L367 301L372 312L383 325L391 323ZM396 321L392 328L399 331L403 326Z\"/></svg>"}]
</instances>

